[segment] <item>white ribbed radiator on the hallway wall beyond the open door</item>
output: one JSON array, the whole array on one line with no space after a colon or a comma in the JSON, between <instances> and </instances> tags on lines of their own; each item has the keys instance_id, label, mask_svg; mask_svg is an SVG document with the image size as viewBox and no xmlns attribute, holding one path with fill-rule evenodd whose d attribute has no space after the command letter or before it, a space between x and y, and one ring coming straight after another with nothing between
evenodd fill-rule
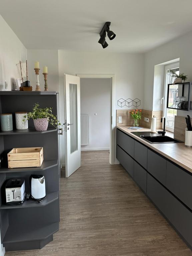
<instances>
[{"instance_id":1,"label":"white ribbed radiator on the hallway wall beyond the open door","mask_svg":"<svg viewBox=\"0 0 192 256\"><path fill-rule=\"evenodd\" d=\"M81 145L89 145L89 115L81 114Z\"/></svg>"}]
</instances>

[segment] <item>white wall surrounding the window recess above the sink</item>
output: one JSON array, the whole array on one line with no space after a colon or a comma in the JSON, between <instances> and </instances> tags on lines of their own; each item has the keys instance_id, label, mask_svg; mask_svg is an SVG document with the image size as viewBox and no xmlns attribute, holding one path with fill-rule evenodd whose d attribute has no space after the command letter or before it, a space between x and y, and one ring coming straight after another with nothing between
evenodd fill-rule
<instances>
[{"instance_id":1,"label":"white wall surrounding the window recess above the sink","mask_svg":"<svg viewBox=\"0 0 192 256\"><path fill-rule=\"evenodd\" d=\"M187 81L192 81L192 32L182 35L162 46L159 46L145 53L145 86L144 86L144 109L154 110L155 101L162 98L156 95L153 104L154 66L170 60L180 58L179 72L188 75ZM162 93L162 91L161 91ZM159 97L159 99L157 98ZM154 109L153 109L154 108ZM179 111L179 115L187 115L184 111Z\"/></svg>"}]
</instances>

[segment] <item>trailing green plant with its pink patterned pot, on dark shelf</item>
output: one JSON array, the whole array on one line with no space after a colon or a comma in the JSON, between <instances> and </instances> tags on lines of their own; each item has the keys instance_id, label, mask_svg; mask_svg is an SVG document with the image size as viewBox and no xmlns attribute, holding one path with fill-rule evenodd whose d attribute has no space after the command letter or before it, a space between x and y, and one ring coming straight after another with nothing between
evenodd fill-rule
<instances>
[{"instance_id":1,"label":"trailing green plant with its pink patterned pot, on dark shelf","mask_svg":"<svg viewBox=\"0 0 192 256\"><path fill-rule=\"evenodd\" d=\"M27 119L33 119L36 131L46 131L48 123L52 124L55 128L60 126L57 116L52 114L52 108L39 108L39 104L35 103L33 111L27 114ZM24 117L25 118L25 117Z\"/></svg>"}]
</instances>

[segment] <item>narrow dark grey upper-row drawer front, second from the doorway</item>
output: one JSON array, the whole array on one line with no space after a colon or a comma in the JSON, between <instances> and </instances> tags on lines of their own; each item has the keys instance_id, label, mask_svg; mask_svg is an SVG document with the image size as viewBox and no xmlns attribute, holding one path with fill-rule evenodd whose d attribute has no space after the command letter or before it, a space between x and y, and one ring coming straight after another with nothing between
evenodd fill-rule
<instances>
[{"instance_id":1,"label":"narrow dark grey upper-row drawer front, second from the doorway","mask_svg":"<svg viewBox=\"0 0 192 256\"><path fill-rule=\"evenodd\" d=\"M134 159L147 169L147 147L135 141Z\"/></svg>"}]
</instances>

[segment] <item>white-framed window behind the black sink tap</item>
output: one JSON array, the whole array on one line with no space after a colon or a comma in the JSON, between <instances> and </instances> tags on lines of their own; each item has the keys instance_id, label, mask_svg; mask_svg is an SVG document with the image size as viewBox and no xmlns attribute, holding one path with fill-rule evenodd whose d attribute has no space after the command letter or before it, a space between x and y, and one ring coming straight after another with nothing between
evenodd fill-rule
<instances>
[{"instance_id":1,"label":"white-framed window behind the black sink tap","mask_svg":"<svg viewBox=\"0 0 192 256\"><path fill-rule=\"evenodd\" d=\"M174 131L174 121L175 121L175 116L177 115L177 110L176 109L169 109L167 108L167 85L172 84L175 80L170 74L170 70L174 70L177 74L179 74L179 62L177 63L172 63L169 65L165 66L165 83L164 83L164 108L163 108L163 116L166 118L165 122L165 129L168 131L173 132ZM169 105L174 105L175 102L175 97L176 97L176 92L175 92L175 86L169 87L169 94L172 96L171 97L171 102ZM169 107L170 107L169 106Z\"/></svg>"}]
</instances>

